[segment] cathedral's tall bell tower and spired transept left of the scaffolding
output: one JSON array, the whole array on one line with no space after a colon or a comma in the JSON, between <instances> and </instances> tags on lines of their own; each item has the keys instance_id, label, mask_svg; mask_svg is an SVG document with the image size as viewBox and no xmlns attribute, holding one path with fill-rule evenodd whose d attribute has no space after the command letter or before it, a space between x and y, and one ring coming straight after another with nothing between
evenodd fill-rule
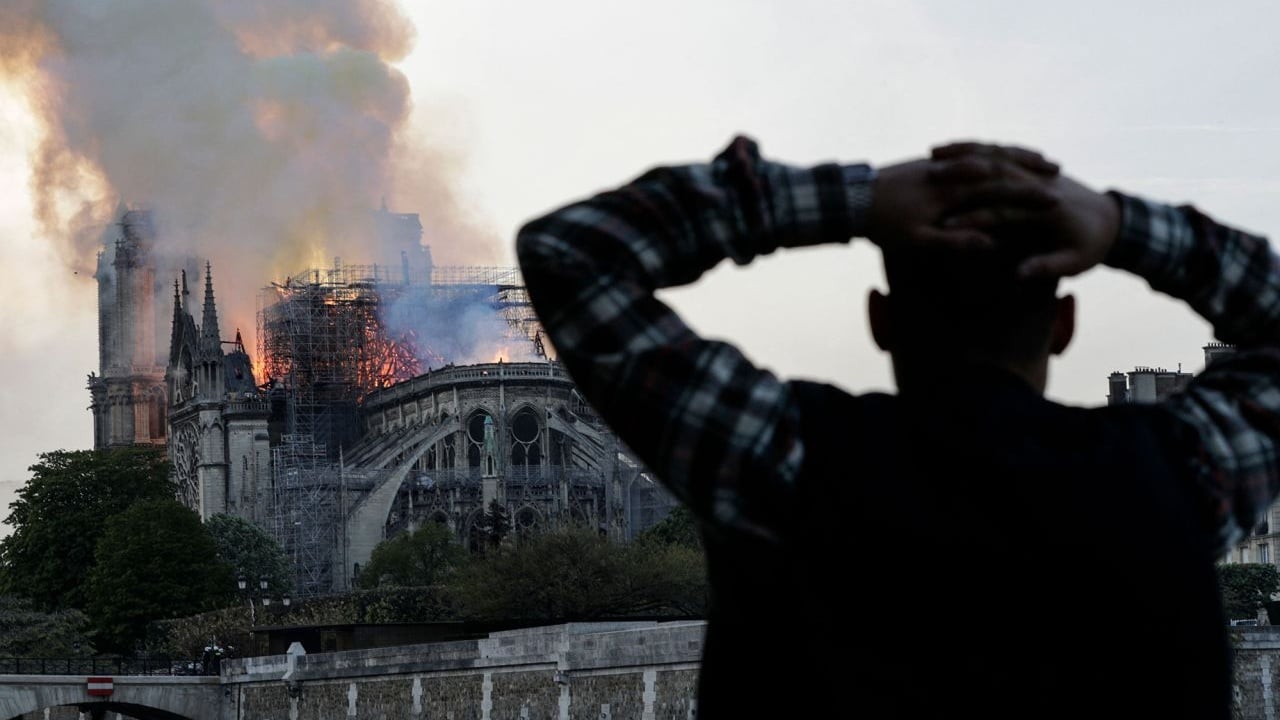
<instances>
[{"instance_id":1,"label":"cathedral's tall bell tower and spired transept left of the scaffolding","mask_svg":"<svg viewBox=\"0 0 1280 720\"><path fill-rule=\"evenodd\" d=\"M269 406L257 396L239 333L234 343L221 338L207 264L196 323L187 290L193 269L195 259L161 252L150 211L120 208L102 238L96 274L100 374L88 382L93 447L166 446L189 507L204 518L259 519L255 497L270 479Z\"/></svg>"}]
</instances>

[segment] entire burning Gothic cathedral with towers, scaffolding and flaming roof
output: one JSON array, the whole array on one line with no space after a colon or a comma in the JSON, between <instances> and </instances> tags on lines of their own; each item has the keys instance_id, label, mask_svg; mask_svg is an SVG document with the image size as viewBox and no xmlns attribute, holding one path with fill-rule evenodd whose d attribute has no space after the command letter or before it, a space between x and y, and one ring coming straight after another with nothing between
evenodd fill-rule
<instances>
[{"instance_id":1,"label":"entire burning Gothic cathedral with towers, scaffolding and flaming roof","mask_svg":"<svg viewBox=\"0 0 1280 720\"><path fill-rule=\"evenodd\" d=\"M416 214L372 227L396 261L270 283L251 355L219 323L216 263L165 255L122 205L96 273L95 447L165 446L183 502L273 534L300 596L351 588L421 523L471 544L492 509L516 537L660 520L673 500L548 359L518 272L433 264Z\"/></svg>"}]
</instances>

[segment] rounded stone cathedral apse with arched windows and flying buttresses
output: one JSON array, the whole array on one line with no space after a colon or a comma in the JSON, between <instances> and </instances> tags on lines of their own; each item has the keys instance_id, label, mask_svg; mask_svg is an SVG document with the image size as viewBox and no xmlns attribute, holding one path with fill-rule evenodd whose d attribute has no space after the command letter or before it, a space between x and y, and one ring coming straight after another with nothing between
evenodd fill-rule
<instances>
[{"instance_id":1,"label":"rounded stone cathedral apse with arched windows and flying buttresses","mask_svg":"<svg viewBox=\"0 0 1280 720\"><path fill-rule=\"evenodd\" d=\"M372 393L362 414L348 464L397 471L380 486L394 493L375 488L349 518L352 557L424 521L474 542L493 501L516 534L577 523L618 539L672 505L556 363L444 368Z\"/></svg>"}]
</instances>

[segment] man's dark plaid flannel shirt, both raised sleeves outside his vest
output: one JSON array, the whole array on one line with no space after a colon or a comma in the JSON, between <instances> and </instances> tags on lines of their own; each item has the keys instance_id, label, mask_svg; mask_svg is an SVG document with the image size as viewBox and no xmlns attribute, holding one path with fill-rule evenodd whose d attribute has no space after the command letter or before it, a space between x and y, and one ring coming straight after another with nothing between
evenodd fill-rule
<instances>
[{"instance_id":1,"label":"man's dark plaid flannel shirt, both raised sleeves outside his vest","mask_svg":"<svg viewBox=\"0 0 1280 720\"><path fill-rule=\"evenodd\" d=\"M654 292L723 259L847 242L864 232L867 165L797 168L736 138L710 164L657 168L526 224L517 254L561 361L618 436L712 533L777 539L804 461L788 383L695 334ZM1189 208L1115 195L1108 263L1188 300L1242 351L1169 401L1225 548L1277 491L1280 272L1263 238Z\"/></svg>"}]
</instances>

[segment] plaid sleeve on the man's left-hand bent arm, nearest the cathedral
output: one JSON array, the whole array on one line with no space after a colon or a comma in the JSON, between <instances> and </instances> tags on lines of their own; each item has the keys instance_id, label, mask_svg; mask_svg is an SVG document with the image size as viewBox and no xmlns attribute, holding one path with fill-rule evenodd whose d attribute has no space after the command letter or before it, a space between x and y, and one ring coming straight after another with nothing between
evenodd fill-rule
<instances>
[{"instance_id":1,"label":"plaid sleeve on the man's left-hand bent arm, nearest the cathedral","mask_svg":"<svg viewBox=\"0 0 1280 720\"><path fill-rule=\"evenodd\" d=\"M736 138L710 164L658 168L526 224L530 299L579 387L713 532L772 539L804 457L786 382L696 336L654 297L731 258L847 242L865 165L794 168Z\"/></svg>"}]
</instances>

